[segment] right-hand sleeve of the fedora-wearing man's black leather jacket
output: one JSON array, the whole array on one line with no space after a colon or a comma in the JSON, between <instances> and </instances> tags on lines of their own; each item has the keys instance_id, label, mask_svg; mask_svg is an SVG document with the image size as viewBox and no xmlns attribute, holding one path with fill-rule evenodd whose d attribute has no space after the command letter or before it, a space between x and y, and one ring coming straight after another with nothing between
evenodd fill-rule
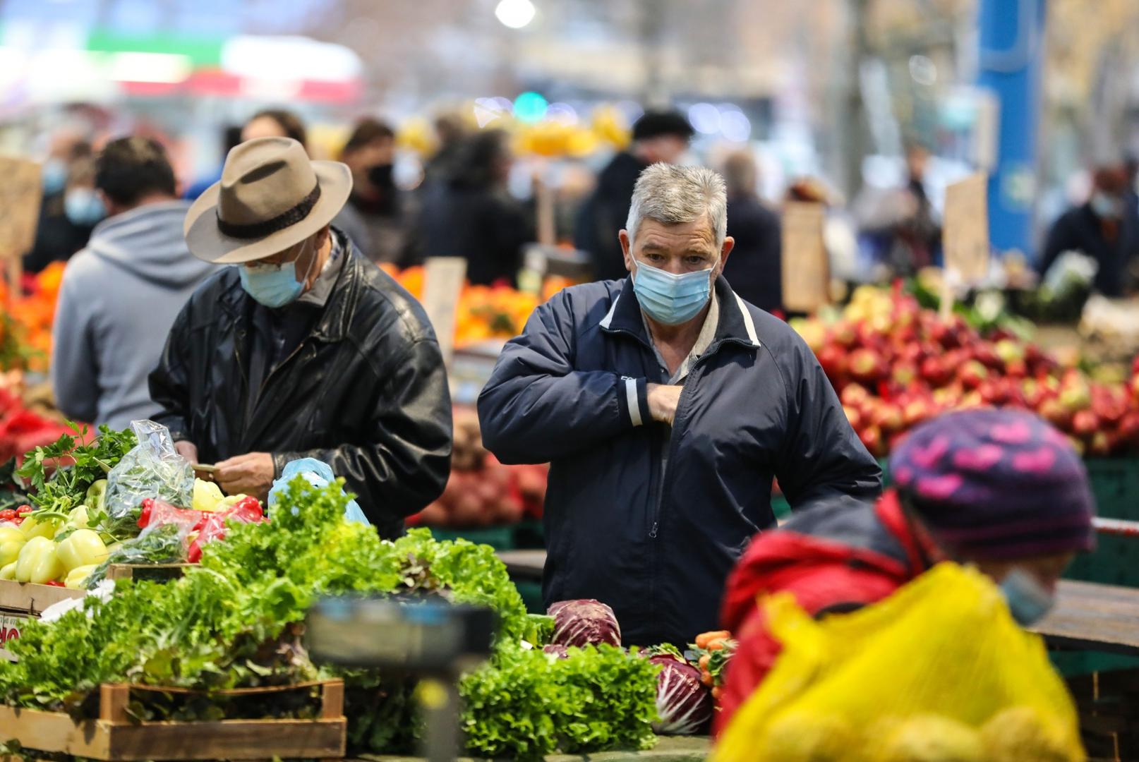
<instances>
[{"instance_id":1,"label":"right-hand sleeve of the fedora-wearing man's black leather jacket","mask_svg":"<svg viewBox=\"0 0 1139 762\"><path fill-rule=\"evenodd\" d=\"M278 476L297 458L327 462L378 527L424 509L443 492L451 470L451 395L439 344L418 339L384 371L374 442L273 453Z\"/></svg>"}]
</instances>

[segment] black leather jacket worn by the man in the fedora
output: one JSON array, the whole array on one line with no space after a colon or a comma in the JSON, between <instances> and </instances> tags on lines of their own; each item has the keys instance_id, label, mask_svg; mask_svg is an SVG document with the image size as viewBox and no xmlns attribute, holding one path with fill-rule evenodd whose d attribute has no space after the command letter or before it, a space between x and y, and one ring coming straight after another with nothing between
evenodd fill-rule
<instances>
[{"instance_id":1,"label":"black leather jacket worn by the man in the fedora","mask_svg":"<svg viewBox=\"0 0 1139 762\"><path fill-rule=\"evenodd\" d=\"M255 303L237 268L182 308L150 396L163 408L155 419L196 444L202 462L270 452L280 475L296 458L323 460L391 538L446 483L446 370L419 303L355 248L345 256L323 312L256 399L246 388Z\"/></svg>"}]
</instances>

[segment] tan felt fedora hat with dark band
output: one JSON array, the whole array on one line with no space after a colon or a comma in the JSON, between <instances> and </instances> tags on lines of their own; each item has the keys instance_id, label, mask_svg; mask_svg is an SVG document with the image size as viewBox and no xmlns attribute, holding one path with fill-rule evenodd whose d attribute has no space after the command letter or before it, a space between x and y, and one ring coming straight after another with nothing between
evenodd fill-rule
<instances>
[{"instance_id":1,"label":"tan felt fedora hat with dark band","mask_svg":"<svg viewBox=\"0 0 1139 762\"><path fill-rule=\"evenodd\" d=\"M186 245L206 262L263 260L312 236L344 207L352 172L339 162L313 162L292 138L257 138L235 146L221 180L186 214Z\"/></svg>"}]
</instances>

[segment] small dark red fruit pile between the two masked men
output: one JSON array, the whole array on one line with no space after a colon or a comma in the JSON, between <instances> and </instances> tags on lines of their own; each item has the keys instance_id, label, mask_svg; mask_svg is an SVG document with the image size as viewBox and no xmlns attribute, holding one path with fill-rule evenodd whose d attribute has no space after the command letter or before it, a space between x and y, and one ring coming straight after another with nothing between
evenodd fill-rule
<instances>
[{"instance_id":1,"label":"small dark red fruit pile between the two masked men","mask_svg":"<svg viewBox=\"0 0 1139 762\"><path fill-rule=\"evenodd\" d=\"M408 519L410 525L470 529L540 518L548 466L505 466L483 446L478 415L456 408L451 475L440 498Z\"/></svg>"}]
</instances>

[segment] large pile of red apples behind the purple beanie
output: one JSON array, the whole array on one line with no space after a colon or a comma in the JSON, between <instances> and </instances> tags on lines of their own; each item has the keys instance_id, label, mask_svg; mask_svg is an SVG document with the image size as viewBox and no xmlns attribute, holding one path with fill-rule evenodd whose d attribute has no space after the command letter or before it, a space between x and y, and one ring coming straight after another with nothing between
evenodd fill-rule
<instances>
[{"instance_id":1,"label":"large pile of red apples behind the purple beanie","mask_svg":"<svg viewBox=\"0 0 1139 762\"><path fill-rule=\"evenodd\" d=\"M933 416L983 405L1033 410L1088 456L1139 449L1139 358L1130 388L1096 383L1011 334L983 337L900 292L880 290L869 308L862 301L837 322L811 318L795 328L874 456Z\"/></svg>"}]
</instances>

